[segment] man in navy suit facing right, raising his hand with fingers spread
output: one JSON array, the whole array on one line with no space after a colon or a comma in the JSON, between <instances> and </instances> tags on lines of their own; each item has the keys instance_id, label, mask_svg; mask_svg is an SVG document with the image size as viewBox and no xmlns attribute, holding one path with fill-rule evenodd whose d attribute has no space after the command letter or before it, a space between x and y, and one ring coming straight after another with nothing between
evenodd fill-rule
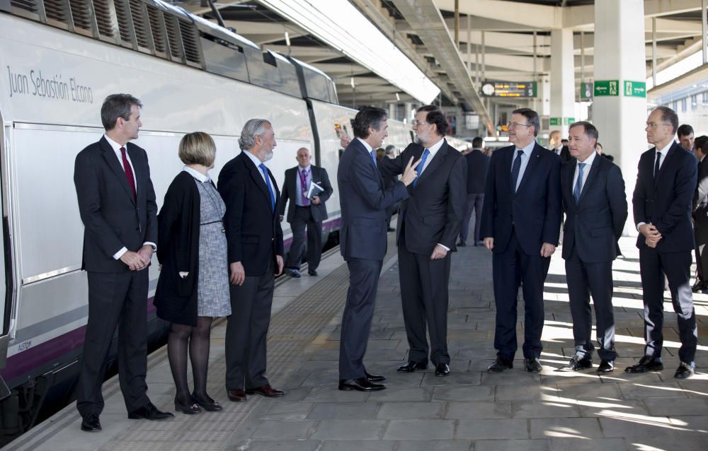
<instances>
[{"instance_id":1,"label":"man in navy suit facing right, raising his hand with fingers spread","mask_svg":"<svg viewBox=\"0 0 708 451\"><path fill-rule=\"evenodd\" d=\"M349 268L339 342L339 389L370 392L386 388L375 383L384 377L370 375L363 363L386 254L386 209L408 197L406 186L411 185L416 172L411 158L401 181L384 189L374 149L388 136L386 110L362 107L352 127L355 138L344 149L337 170L342 208L340 250Z\"/></svg>"}]
</instances>

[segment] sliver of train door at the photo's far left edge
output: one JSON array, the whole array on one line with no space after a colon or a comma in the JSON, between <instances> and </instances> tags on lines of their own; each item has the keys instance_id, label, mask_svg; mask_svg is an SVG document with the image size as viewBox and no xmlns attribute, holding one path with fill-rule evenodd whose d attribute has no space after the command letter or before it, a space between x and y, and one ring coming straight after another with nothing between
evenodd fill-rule
<instances>
[{"instance_id":1,"label":"sliver of train door at the photo's far left edge","mask_svg":"<svg viewBox=\"0 0 708 451\"><path fill-rule=\"evenodd\" d=\"M10 320L12 317L12 272L11 259L9 258L10 240L8 212L6 211L5 189L7 172L5 169L6 150L9 137L5 130L0 111L0 210L2 211L2 224L0 226L0 369L5 367L7 359L7 346L10 341ZM0 376L0 399L6 398L10 394L7 385Z\"/></svg>"}]
</instances>

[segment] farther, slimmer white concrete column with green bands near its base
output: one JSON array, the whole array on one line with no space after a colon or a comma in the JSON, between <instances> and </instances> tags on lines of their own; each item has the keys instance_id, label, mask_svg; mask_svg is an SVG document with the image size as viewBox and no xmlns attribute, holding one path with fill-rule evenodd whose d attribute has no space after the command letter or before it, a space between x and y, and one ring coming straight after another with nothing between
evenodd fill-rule
<instances>
[{"instance_id":1,"label":"farther, slimmer white concrete column with green bands near its base","mask_svg":"<svg viewBox=\"0 0 708 451\"><path fill-rule=\"evenodd\" d=\"M551 30L551 117L560 118L560 125L551 125L552 130L561 130L568 136L568 119L574 115L575 64L573 60L573 30Z\"/></svg>"}]
</instances>

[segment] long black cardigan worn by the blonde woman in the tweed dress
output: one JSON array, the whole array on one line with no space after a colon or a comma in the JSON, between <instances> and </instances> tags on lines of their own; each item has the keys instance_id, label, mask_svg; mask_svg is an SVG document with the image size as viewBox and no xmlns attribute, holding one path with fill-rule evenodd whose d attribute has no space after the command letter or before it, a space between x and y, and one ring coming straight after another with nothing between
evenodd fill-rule
<instances>
[{"instance_id":1,"label":"long black cardigan worn by the blonde woman in the tweed dress","mask_svg":"<svg viewBox=\"0 0 708 451\"><path fill-rule=\"evenodd\" d=\"M154 298L157 316L190 326L197 325L200 201L194 177L181 171L157 216L157 259L162 265ZM189 275L182 279L180 272Z\"/></svg>"}]
</instances>

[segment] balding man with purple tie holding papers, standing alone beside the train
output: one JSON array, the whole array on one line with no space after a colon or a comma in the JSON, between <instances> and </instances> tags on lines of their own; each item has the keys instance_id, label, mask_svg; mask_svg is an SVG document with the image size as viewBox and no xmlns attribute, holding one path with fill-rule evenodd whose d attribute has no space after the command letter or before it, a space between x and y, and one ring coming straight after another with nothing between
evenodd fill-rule
<instances>
[{"instance_id":1,"label":"balding man with purple tie holding papers, standing alone beside the train","mask_svg":"<svg viewBox=\"0 0 708 451\"><path fill-rule=\"evenodd\" d=\"M322 221L327 218L325 202L332 195L332 185L324 168L310 164L312 156L307 148L297 150L297 166L285 171L285 182L282 185L282 196L278 204L280 221L285 215L285 204L290 201L287 210L287 222L292 230L292 244L287 253L285 274L290 277L300 276L300 261L305 245L305 228L307 228L307 273L317 275L317 266L322 256ZM312 183L324 189L323 192L307 196Z\"/></svg>"}]
</instances>

